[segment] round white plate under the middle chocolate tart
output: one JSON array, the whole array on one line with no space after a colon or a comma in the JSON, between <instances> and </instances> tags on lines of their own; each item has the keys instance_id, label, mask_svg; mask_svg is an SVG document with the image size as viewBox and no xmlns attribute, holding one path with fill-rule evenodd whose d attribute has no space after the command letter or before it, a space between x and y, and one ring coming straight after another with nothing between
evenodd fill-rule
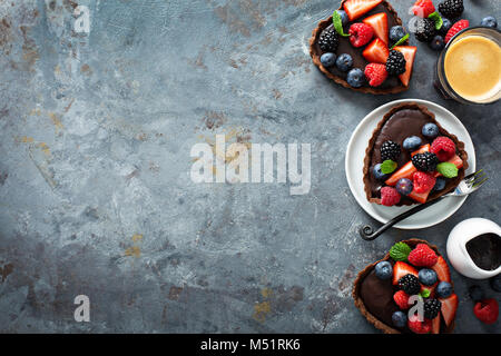
<instances>
[{"instance_id":1,"label":"round white plate under the middle chocolate tart","mask_svg":"<svg viewBox=\"0 0 501 356\"><path fill-rule=\"evenodd\" d=\"M381 222L387 222L395 216L412 209L411 207L385 207L377 204L371 204L367 201L363 182L363 168L365 149L367 148L369 140L372 137L372 132L381 121L383 116L390 111L390 109L402 102L419 102L428 107L430 111L435 115L436 121L443 126L445 130L458 136L460 141L464 142L465 151L468 152L469 168L466 175L475 171L475 150L471 140L470 134L461 121L445 108L426 100L419 99L403 99L385 103L371 113L369 113L356 127L355 131L350 139L346 158L345 170L346 179L358 205L374 219ZM418 212L413 216L402 220L394 227L399 229L422 229L436 224L442 222L451 215L453 215L466 200L466 197L450 197L442 201Z\"/></svg>"}]
</instances>

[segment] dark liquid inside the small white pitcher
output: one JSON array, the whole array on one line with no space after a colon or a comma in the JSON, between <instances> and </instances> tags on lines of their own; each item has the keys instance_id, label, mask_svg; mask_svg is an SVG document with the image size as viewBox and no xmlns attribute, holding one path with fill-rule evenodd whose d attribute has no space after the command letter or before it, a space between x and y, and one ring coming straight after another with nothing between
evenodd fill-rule
<instances>
[{"instance_id":1,"label":"dark liquid inside the small white pitcher","mask_svg":"<svg viewBox=\"0 0 501 356\"><path fill-rule=\"evenodd\" d=\"M479 268L494 270L501 266L501 237L495 234L477 236L466 243L466 250Z\"/></svg>"}]
</instances>

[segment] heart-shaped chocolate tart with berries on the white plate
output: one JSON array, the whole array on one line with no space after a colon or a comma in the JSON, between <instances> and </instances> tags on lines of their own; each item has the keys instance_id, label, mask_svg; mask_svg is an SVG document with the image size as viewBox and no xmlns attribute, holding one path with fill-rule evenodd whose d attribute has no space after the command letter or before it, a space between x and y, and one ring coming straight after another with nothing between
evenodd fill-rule
<instances>
[{"instance_id":1,"label":"heart-shaped chocolate tart with berries on the white plate","mask_svg":"<svg viewBox=\"0 0 501 356\"><path fill-rule=\"evenodd\" d=\"M384 206L426 202L464 178L464 144L416 102L393 107L374 130L364 158L367 200Z\"/></svg>"}]
</instances>

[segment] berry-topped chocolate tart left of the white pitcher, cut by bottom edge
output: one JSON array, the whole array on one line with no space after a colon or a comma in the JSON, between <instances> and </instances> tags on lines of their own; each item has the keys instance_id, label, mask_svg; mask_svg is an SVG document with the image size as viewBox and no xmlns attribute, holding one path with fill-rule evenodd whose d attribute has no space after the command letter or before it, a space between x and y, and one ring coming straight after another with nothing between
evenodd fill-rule
<instances>
[{"instance_id":1,"label":"berry-topped chocolate tart left of the white pitcher, cut by bottom edge","mask_svg":"<svg viewBox=\"0 0 501 356\"><path fill-rule=\"evenodd\" d=\"M421 320L409 300L413 295L419 295L423 306ZM454 329L459 303L450 269L436 246L425 240L395 244L383 259L358 273L352 296L362 315L385 334L449 334Z\"/></svg>"}]
</instances>

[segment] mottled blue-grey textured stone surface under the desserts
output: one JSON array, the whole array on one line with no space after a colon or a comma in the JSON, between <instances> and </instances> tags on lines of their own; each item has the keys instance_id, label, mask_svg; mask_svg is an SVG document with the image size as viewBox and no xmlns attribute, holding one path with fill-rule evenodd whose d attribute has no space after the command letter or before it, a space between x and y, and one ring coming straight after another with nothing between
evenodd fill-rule
<instances>
[{"instance_id":1,"label":"mottled blue-grey textured stone surface under the desserts","mask_svg":"<svg viewBox=\"0 0 501 356\"><path fill-rule=\"evenodd\" d=\"M88 36L72 31L77 2L90 8ZM404 21L411 2L393 1ZM501 20L499 0L465 3L473 23ZM399 239L444 251L459 221L501 222L500 105L440 99L423 44L405 93L336 87L307 52L333 7L0 0L0 332L373 333L350 295L360 269ZM374 221L350 192L344 152L369 111L400 98L454 112L491 180L436 227L365 243L356 228ZM189 150L216 134L311 142L311 192L194 185ZM456 332L500 333L474 318L473 280L453 278ZM79 294L91 323L73 320Z\"/></svg>"}]
</instances>

